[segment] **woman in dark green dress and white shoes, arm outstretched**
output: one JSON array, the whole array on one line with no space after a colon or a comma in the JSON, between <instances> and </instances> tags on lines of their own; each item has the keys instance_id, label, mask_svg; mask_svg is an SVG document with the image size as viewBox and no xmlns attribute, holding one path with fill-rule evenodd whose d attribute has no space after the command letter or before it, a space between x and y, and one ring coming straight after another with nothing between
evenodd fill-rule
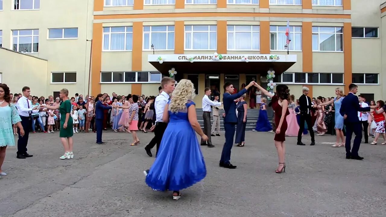
<instances>
[{"instance_id":1,"label":"woman in dark green dress and white shoes, arm outstretched","mask_svg":"<svg viewBox=\"0 0 386 217\"><path fill-rule=\"evenodd\" d=\"M59 93L59 97L63 101L60 103L60 105L55 105L55 106L46 105L44 107L48 109L59 109L60 116L61 116L59 137L64 148L64 154L60 157L60 159L70 159L70 158L74 158L74 153L73 153L73 139L72 139L73 119L71 118L71 115L70 115L71 102L68 99L68 90L66 88L63 88Z\"/></svg>"}]
</instances>

